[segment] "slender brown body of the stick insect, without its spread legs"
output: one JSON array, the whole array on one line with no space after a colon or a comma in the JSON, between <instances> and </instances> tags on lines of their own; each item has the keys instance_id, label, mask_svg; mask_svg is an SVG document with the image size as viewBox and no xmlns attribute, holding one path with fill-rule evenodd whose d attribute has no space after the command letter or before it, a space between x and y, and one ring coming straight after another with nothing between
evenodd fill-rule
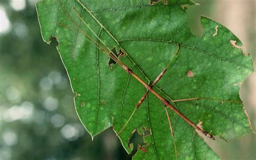
<instances>
[{"instance_id":1,"label":"slender brown body of the stick insect, without its spread legs","mask_svg":"<svg viewBox=\"0 0 256 160\"><path fill-rule=\"evenodd\" d=\"M76 13L78 14L78 12L76 12ZM80 19L83 20L83 18L80 17L79 14L78 14L78 16L79 16ZM83 20L83 23L86 24L84 20ZM86 25L86 26L87 26L88 28L90 28L88 25ZM91 28L90 28L90 30L91 30ZM85 32L85 31L84 31L84 32ZM91 32L92 32L93 34L95 34L92 30L91 30ZM104 43L104 46L109 50L109 52L107 52L106 48L104 48L103 46L99 45L99 43L97 43L97 41L96 41L95 39L93 39L92 37L90 37L90 35L88 35L86 32L85 32L85 35L86 35L87 38L89 38L90 40L92 40L93 42L95 42L95 43L97 44L97 47L98 47L100 50L102 50L102 52L104 52L104 53L106 53L108 56L110 56L111 59L113 59L114 61L116 61L116 63L119 64L119 66L122 67L128 74L130 74L130 75L133 76L135 79L137 79L137 81L138 81L139 83L141 83L142 85L144 85L147 90L149 90L149 91L150 91L151 93L153 93L159 100L161 100L162 103L163 103L165 106L169 107L173 112L175 112L180 118L182 118L183 120L185 120L185 121L186 121L189 125L191 125L193 128L197 129L199 132L201 132L201 133L203 133L204 135L206 135L206 136L210 137L211 139L215 140L214 137L213 137L211 134L205 132L203 129L201 129L201 128L199 128L197 125L195 125L191 120L187 119L187 118L185 117L185 115L183 115L181 112L179 112L175 107L173 107L173 106L170 104L170 101L168 101L168 100L164 99L163 97L161 97L160 94L158 94L156 91L154 91L150 85L148 85L147 83L145 83L140 77L138 77L136 74L134 74L134 72L133 72L129 67L127 67L122 61L120 61L116 56L114 56L114 55L112 54L111 49L109 49L109 47L107 47L107 46L105 45L105 43ZM97 36L96 36L96 37L97 37ZM98 38L98 37L97 37L97 38ZM99 39L99 38L98 38L98 39ZM86 40L89 41L89 42L91 42L91 41L88 40L88 39L86 39ZM179 48L178 48L178 49L179 49ZM170 63L169 63L169 64L170 64ZM169 65L168 65L168 66L169 66ZM161 75L161 74L160 74L160 75ZM159 75L159 76L160 76L160 75ZM163 76L163 75L162 75L162 76ZM159 79L160 79L160 78L159 78ZM158 79L158 81L159 81L159 79ZM156 79L156 80L157 80L157 79ZM135 111L136 111L136 109L133 111L133 113L134 113ZM131 118L131 117L130 117L130 118Z\"/></svg>"}]
</instances>

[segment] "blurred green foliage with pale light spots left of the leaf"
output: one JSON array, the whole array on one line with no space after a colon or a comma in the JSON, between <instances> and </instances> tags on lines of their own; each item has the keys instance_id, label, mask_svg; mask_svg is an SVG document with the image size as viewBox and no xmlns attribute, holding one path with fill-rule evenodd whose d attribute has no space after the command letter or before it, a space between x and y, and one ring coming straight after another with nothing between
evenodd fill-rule
<instances>
[{"instance_id":1,"label":"blurred green foliage with pale light spots left of the leaf","mask_svg":"<svg viewBox=\"0 0 256 160\"><path fill-rule=\"evenodd\" d=\"M130 159L107 129L92 141L80 123L57 41L43 42L35 1L17 11L0 33L0 159ZM3 24L0 24L3 25Z\"/></svg>"}]
</instances>

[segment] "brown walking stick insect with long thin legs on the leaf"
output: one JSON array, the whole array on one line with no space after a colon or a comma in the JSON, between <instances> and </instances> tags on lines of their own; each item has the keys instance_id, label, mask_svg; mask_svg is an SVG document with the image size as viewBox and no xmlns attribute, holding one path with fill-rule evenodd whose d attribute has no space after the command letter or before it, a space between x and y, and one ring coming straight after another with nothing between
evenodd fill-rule
<instances>
[{"instance_id":1,"label":"brown walking stick insect with long thin legs on the leaf","mask_svg":"<svg viewBox=\"0 0 256 160\"><path fill-rule=\"evenodd\" d=\"M60 3L60 2L59 2ZM79 0L78 0L78 3L80 3L80 5L83 6L83 10L86 10L88 11L89 14L91 14L92 18L94 18L97 22L98 20L93 16L93 14L84 6L83 3L81 3ZM60 5L60 8L62 8L62 6ZM75 23L75 21L69 16L69 13L67 13L64 9L63 11L65 12L66 16L68 17L68 19L75 25L78 27L78 25ZM210 137L212 140L215 140L214 137L210 134L210 133L207 133L205 132L205 130L203 128L200 128L198 127L195 123L193 123L191 120L189 120L188 118L185 117L185 115L183 115L179 110L177 110L176 107L174 107L171 103L174 103L174 102L178 102L178 101L188 101L188 100L199 100L199 99L209 99L209 98L188 98L188 99L179 99L179 100L167 100L165 98L163 98L162 96L160 96L160 94L158 92L156 92L154 89L153 89L153 86L154 84L156 84L159 79L165 74L167 68L169 68L174 56L176 56L179 52L179 44L177 44L177 51L176 53L173 55L171 61L167 64L167 66L163 69L163 71L159 74L159 76L156 78L156 80L152 83L152 85L149 85L147 84L146 82L144 82L138 75L136 75L132 69L130 69L129 67L126 66L125 63L123 63L119 57L114 54L112 52L112 50L110 49L109 46L106 45L105 42L103 42L99 37L98 35L92 30L92 28L86 23L86 21L82 18L82 16L80 16L80 14L78 13L78 11L75 9L75 8L72 8L72 11L75 12L77 14L77 16L79 17L80 21L83 22L83 24L91 31L91 33L93 35L95 35L95 37L97 38L96 40L94 38L92 38L89 34L87 34L82 28L78 27L79 30L78 31L75 31L73 30L71 27L69 26L66 26L62 23L57 23L58 25L62 26L62 27L65 27L65 28L68 28L69 30L75 32L75 33L83 33L85 35L85 39L90 42L92 45L94 45L95 47L97 47L99 50L101 50L103 53L105 53L107 56L110 57L110 59L112 59L114 62L116 62L116 64L118 64L120 67L122 67L126 72L127 74L131 75L133 78L135 78L140 84L142 84L145 89L146 89L146 93L143 95L143 97L139 100L139 103L137 104L137 106L135 107L134 111L132 112L130 118L126 121L125 125L123 126L123 128L118 132L117 135L120 135L122 133L122 131L125 129L127 123L129 123L129 121L131 120L133 114L138 110L139 106L143 103L145 97L147 96L147 93L148 92L151 92L154 94L154 96L156 96L164 105L165 107L165 111L166 111L166 114L167 114L167 119L169 121L169 125L170 125L170 130L171 130L171 134L174 135L173 133L173 130L172 130L172 125L171 125L171 120L170 120L170 117L169 117L169 114L168 114L168 111L167 111L167 108L170 108L173 112L175 112L180 118L182 118L183 120L185 120L188 125L192 126L194 129L198 130L199 132L203 133L204 135L206 135L207 137ZM99 23L99 22L98 22ZM107 33L109 33L106 28L100 24L100 26L102 27L103 30L105 30ZM109 33L110 34L110 33ZM111 35L112 36L112 35ZM100 44L99 42L97 42L97 40L99 40L102 44ZM117 42L117 45L122 49L123 53L125 53L127 55L127 53L125 52L125 50L119 45L118 41ZM217 100L217 99L213 99L213 100Z\"/></svg>"}]
</instances>

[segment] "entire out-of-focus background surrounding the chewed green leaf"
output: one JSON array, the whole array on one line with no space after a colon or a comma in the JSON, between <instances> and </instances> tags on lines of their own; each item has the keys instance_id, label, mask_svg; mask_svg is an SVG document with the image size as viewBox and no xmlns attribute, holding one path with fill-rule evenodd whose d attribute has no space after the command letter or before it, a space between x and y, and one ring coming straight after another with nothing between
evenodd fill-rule
<instances>
[{"instance_id":1,"label":"entire out-of-focus background surrounding the chewed green leaf","mask_svg":"<svg viewBox=\"0 0 256 160\"><path fill-rule=\"evenodd\" d=\"M203 32L199 15L214 19L237 35L256 64L256 0L194 2L200 5L187 10L192 32ZM42 40L34 0L0 0L0 159L131 159L112 128L91 141L56 45ZM255 72L240 93L255 129ZM256 159L255 134L207 143L223 159Z\"/></svg>"}]
</instances>

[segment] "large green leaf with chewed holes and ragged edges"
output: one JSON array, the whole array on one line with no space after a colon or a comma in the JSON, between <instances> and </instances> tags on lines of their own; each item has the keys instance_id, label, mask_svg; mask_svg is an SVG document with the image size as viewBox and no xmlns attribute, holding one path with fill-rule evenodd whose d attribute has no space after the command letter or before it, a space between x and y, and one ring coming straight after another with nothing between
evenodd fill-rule
<instances>
[{"instance_id":1,"label":"large green leaf with chewed holes and ragged edges","mask_svg":"<svg viewBox=\"0 0 256 160\"><path fill-rule=\"evenodd\" d=\"M169 101L198 98L171 104L195 124L201 121L206 132L226 141L252 132L239 98L240 83L253 71L252 59L240 48L238 38L205 17L201 17L203 36L193 35L180 6L192 4L188 0L167 5L150 2L37 3L43 39L50 43L56 37L59 42L57 49L77 93L76 110L87 131L93 137L113 126L118 133L146 89L90 43L86 34L112 51L123 50L125 55L119 59L149 84L170 62L179 44L177 55L153 89ZM167 111L174 136L164 104L151 92L119 134L130 153L134 130L149 133L144 135L144 149L134 159L218 159L193 127L169 108Z\"/></svg>"}]
</instances>

